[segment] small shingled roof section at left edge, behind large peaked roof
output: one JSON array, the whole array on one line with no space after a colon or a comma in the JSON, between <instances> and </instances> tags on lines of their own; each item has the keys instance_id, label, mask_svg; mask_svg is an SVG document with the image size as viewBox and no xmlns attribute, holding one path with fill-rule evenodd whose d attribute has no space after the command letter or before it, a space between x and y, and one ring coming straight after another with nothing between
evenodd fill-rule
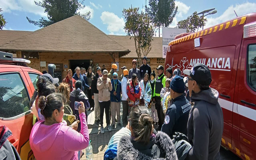
<instances>
[{"instance_id":1,"label":"small shingled roof section at left edge, behind large peaked roof","mask_svg":"<svg viewBox=\"0 0 256 160\"><path fill-rule=\"evenodd\" d=\"M32 31L12 31L12 30L0 30L0 46L6 43L9 43L13 40L24 37Z\"/></svg>"}]
</instances>

